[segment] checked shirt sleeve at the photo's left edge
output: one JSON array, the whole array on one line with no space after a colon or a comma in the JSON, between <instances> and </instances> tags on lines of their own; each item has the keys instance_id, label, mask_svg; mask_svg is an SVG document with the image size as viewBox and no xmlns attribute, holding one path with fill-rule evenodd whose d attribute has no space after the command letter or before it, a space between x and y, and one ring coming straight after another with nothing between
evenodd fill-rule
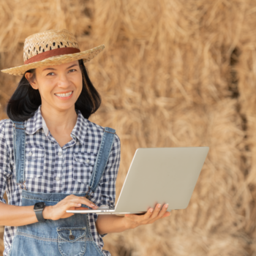
<instances>
[{"instance_id":1,"label":"checked shirt sleeve at the photo's left edge","mask_svg":"<svg viewBox=\"0 0 256 256\"><path fill-rule=\"evenodd\" d=\"M0 202L2 203L6 203L4 192L7 187L7 179L12 175L10 151L5 139L4 120L0 121Z\"/></svg>"}]
</instances>

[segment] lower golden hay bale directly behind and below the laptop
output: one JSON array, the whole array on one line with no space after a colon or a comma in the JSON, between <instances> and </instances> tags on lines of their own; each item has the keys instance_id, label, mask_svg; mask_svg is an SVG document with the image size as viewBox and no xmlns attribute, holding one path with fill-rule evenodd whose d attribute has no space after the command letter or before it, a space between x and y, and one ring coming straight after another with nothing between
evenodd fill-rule
<instances>
[{"instance_id":1,"label":"lower golden hay bale directly behind and below the laptop","mask_svg":"<svg viewBox=\"0 0 256 256\"><path fill-rule=\"evenodd\" d=\"M154 106L151 110L155 108ZM148 118L152 116L151 110L145 113ZM119 117L121 116L127 115L120 113ZM102 113L102 118L111 124L117 117ZM148 136L165 129L165 135L161 136L157 132L159 140L152 146L208 145L211 148L189 207L173 211L169 219L154 225L108 235L105 239L107 246L116 250L120 246L129 248L135 255L246 255L249 237L243 231L246 224L244 212L249 211L250 196L241 170L244 132L236 113L236 100L225 100L205 108L197 106L191 109L180 105L165 122L170 124L169 127L165 127L162 121L157 121L164 118L157 111L154 120L151 120L154 127L151 126ZM140 134L141 131L138 126L137 128L133 131ZM117 132L125 149L135 150L133 143L136 140L140 146L140 136L134 135L127 140L129 127L121 125ZM121 154L122 162L127 151L123 150ZM128 162L121 165L118 187L124 181Z\"/></svg>"}]
</instances>

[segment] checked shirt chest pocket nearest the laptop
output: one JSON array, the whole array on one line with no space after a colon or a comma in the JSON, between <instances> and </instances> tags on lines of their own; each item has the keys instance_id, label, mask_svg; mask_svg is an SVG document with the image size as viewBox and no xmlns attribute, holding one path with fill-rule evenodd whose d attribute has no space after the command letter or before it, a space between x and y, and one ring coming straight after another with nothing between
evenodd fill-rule
<instances>
[{"instance_id":1,"label":"checked shirt chest pocket nearest the laptop","mask_svg":"<svg viewBox=\"0 0 256 256\"><path fill-rule=\"evenodd\" d=\"M73 179L89 184L97 155L92 153L74 153L73 156Z\"/></svg>"}]
</instances>

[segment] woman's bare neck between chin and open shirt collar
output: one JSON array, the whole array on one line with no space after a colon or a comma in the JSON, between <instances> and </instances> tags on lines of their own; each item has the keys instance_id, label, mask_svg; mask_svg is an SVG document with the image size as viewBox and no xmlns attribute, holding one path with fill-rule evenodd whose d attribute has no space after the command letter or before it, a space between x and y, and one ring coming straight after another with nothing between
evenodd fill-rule
<instances>
[{"instance_id":1,"label":"woman's bare neck between chin and open shirt collar","mask_svg":"<svg viewBox=\"0 0 256 256\"><path fill-rule=\"evenodd\" d=\"M49 105L41 105L41 114L45 119L45 124L50 131L71 133L78 119L78 114L73 108L67 110L59 110L50 107Z\"/></svg>"}]
</instances>

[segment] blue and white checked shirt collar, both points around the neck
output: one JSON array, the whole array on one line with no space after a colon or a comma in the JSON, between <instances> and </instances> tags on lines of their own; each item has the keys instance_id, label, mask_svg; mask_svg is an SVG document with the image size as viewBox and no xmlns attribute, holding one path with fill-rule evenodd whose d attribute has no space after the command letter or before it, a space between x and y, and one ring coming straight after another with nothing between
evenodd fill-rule
<instances>
[{"instance_id":1,"label":"blue and white checked shirt collar, both points around the neck","mask_svg":"<svg viewBox=\"0 0 256 256\"><path fill-rule=\"evenodd\" d=\"M78 138L80 143L83 144L86 142L86 132L89 120L83 117L82 113L80 113L80 110L76 110L76 112L78 113L78 120L75 124L75 127L72 129L71 135L73 135L72 137ZM45 136L48 136L49 129L45 124L44 118L42 117L40 105L37 111L34 113L34 116L26 121L26 133L32 135L41 128L45 132Z\"/></svg>"}]
</instances>

